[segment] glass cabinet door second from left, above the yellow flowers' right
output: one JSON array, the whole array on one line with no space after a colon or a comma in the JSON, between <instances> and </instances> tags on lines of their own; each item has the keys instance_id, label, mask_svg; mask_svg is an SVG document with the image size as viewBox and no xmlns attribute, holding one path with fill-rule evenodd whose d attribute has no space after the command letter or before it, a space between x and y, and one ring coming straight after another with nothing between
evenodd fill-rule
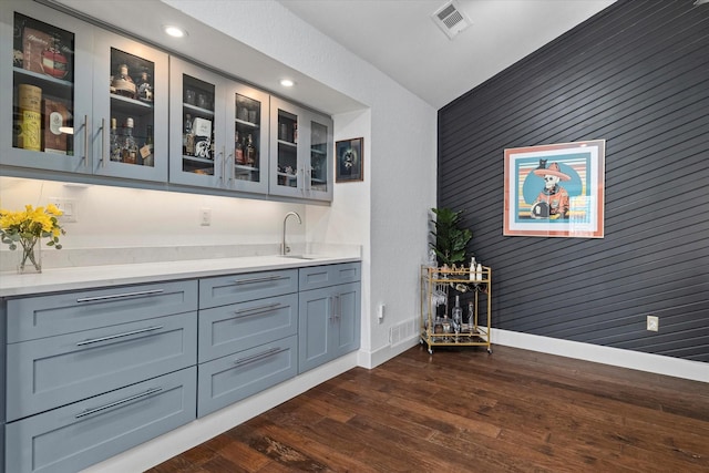
<instances>
[{"instance_id":1,"label":"glass cabinet door second from left, above the yellow flowers' right","mask_svg":"<svg viewBox=\"0 0 709 473\"><path fill-rule=\"evenodd\" d=\"M94 79L94 173L167 179L167 55L101 33Z\"/></svg>"}]
</instances>

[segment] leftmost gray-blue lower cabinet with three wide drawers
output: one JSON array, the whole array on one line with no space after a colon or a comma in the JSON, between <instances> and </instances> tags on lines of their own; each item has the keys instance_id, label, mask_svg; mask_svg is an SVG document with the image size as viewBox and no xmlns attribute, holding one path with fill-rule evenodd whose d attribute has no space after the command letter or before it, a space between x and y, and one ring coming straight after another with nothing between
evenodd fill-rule
<instances>
[{"instance_id":1,"label":"leftmost gray-blue lower cabinet with three wide drawers","mask_svg":"<svg viewBox=\"0 0 709 473\"><path fill-rule=\"evenodd\" d=\"M75 472L194 420L197 288L2 301L4 471Z\"/></svg>"}]
</instances>

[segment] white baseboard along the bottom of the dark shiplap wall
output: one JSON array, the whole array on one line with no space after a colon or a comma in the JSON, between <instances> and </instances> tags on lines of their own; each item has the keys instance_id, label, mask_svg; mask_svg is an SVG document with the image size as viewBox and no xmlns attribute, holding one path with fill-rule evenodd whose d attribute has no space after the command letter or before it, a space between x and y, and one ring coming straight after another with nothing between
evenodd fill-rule
<instances>
[{"instance_id":1,"label":"white baseboard along the bottom of the dark shiplap wall","mask_svg":"<svg viewBox=\"0 0 709 473\"><path fill-rule=\"evenodd\" d=\"M503 345L505 347L523 348L525 350L709 383L709 363L702 363L701 361L682 360L661 354L643 353L495 328L492 329L492 342L493 346Z\"/></svg>"}]
</instances>

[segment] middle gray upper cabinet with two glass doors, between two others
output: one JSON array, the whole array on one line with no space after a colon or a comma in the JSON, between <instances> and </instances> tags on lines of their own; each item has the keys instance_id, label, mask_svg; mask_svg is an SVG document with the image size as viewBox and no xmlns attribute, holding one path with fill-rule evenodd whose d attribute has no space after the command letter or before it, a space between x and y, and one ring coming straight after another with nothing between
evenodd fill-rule
<instances>
[{"instance_id":1,"label":"middle gray upper cabinet with two glass doors, between two others","mask_svg":"<svg viewBox=\"0 0 709 473\"><path fill-rule=\"evenodd\" d=\"M169 59L169 182L268 193L265 92Z\"/></svg>"}]
</instances>

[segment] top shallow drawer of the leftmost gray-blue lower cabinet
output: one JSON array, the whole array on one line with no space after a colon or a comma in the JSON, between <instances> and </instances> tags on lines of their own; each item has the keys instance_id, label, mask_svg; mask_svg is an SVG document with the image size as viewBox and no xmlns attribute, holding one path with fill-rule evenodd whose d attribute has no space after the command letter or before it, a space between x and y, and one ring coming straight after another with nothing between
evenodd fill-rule
<instances>
[{"instance_id":1,"label":"top shallow drawer of the leftmost gray-blue lower cabinet","mask_svg":"<svg viewBox=\"0 0 709 473\"><path fill-rule=\"evenodd\" d=\"M197 310L197 281L122 286L8 300L8 342Z\"/></svg>"}]
</instances>

